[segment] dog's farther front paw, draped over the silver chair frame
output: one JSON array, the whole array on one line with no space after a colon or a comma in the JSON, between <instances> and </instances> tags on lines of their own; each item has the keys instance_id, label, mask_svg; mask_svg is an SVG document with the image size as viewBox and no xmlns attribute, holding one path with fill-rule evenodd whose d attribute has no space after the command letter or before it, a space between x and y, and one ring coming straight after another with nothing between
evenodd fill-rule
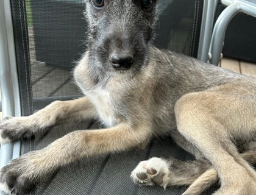
<instances>
[{"instance_id":1,"label":"dog's farther front paw, draped over the silver chair frame","mask_svg":"<svg viewBox=\"0 0 256 195\"><path fill-rule=\"evenodd\" d=\"M7 116L0 121L0 144L30 138L33 134L32 126L26 116Z\"/></svg>"}]
</instances>

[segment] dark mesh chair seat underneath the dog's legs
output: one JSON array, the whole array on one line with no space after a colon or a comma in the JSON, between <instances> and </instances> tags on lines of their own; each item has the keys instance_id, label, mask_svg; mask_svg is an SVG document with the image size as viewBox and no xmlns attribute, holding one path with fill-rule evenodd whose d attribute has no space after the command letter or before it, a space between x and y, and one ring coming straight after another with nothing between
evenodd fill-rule
<instances>
[{"instance_id":1,"label":"dark mesh chair seat underneath the dog's legs","mask_svg":"<svg viewBox=\"0 0 256 195\"><path fill-rule=\"evenodd\" d=\"M23 141L22 154L46 147L55 139L65 133L77 129L95 129L94 124L67 124L54 127L44 138ZM49 178L48 181L37 185L32 195L52 194L106 194L106 195L132 195L132 194L182 194L186 186L172 186L166 190L159 186L138 186L130 179L130 173L142 160L151 157L179 158L192 160L193 156L183 151L171 138L153 140L143 151L127 151L119 154L102 155L98 158L84 158L71 165L65 166ZM212 194L218 185L213 186L205 195Z\"/></svg>"}]
</instances>

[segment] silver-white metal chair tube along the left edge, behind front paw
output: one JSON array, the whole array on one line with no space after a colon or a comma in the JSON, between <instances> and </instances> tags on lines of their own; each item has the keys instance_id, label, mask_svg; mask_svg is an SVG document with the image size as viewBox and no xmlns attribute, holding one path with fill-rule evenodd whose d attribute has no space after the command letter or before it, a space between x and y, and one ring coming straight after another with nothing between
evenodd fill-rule
<instances>
[{"instance_id":1,"label":"silver-white metal chair tube along the left edge, behind front paw","mask_svg":"<svg viewBox=\"0 0 256 195\"><path fill-rule=\"evenodd\" d=\"M0 0L0 83L2 115L21 116L20 90L16 68L15 42L9 0ZM0 168L20 155L20 141L3 144L0 149ZM1 195L4 193L1 192Z\"/></svg>"}]
</instances>

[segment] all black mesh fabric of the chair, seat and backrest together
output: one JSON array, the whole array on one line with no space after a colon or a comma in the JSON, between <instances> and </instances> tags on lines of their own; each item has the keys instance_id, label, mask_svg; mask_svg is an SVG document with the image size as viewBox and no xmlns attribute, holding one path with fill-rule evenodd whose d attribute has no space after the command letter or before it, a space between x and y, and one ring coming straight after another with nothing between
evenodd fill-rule
<instances>
[{"instance_id":1,"label":"all black mesh fabric of the chair, seat and backrest together","mask_svg":"<svg viewBox=\"0 0 256 195\"><path fill-rule=\"evenodd\" d=\"M155 44L196 57L203 1L161 2ZM83 0L11 0L11 5L22 115L31 115L57 99L81 96L70 71L86 49ZM21 154L42 149L73 130L96 128L98 124L89 121L54 127L43 138L23 141ZM86 158L60 168L30 194L182 194L185 186L163 190L140 187L130 180L130 172L141 160L170 155L193 159L171 138L153 140L144 151ZM212 194L217 187L204 194Z\"/></svg>"}]
</instances>

